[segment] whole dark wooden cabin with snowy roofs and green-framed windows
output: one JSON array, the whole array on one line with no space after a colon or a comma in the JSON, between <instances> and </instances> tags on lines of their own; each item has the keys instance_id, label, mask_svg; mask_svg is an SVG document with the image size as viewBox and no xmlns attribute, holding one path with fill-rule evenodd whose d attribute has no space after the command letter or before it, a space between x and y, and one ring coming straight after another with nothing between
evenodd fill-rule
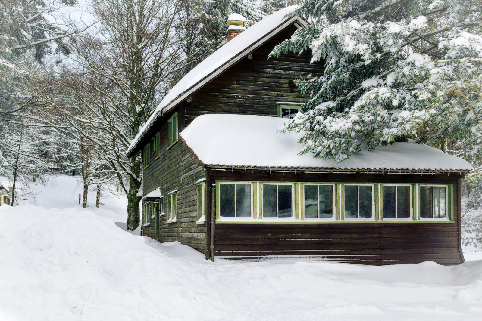
<instances>
[{"instance_id":1,"label":"whole dark wooden cabin with snowy roofs and green-framed windows","mask_svg":"<svg viewBox=\"0 0 482 321\"><path fill-rule=\"evenodd\" d=\"M247 28L193 68L132 142L128 156L143 152L143 235L213 260L462 263L468 162L411 141L337 164L298 155L299 137L277 132L308 100L294 80L323 72L309 52L268 59L306 26L285 17L292 10Z\"/></svg>"}]
</instances>

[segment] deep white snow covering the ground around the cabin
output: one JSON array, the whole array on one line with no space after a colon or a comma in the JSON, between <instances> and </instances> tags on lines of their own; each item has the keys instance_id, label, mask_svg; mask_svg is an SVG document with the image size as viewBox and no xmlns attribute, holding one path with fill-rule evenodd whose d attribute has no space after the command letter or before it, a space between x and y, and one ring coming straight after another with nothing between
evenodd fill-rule
<instances>
[{"instance_id":1,"label":"deep white snow covering the ground around the cabin","mask_svg":"<svg viewBox=\"0 0 482 321\"><path fill-rule=\"evenodd\" d=\"M0 207L0 320L482 319L482 260L213 263L122 231L95 207L47 207Z\"/></svg>"}]
</instances>

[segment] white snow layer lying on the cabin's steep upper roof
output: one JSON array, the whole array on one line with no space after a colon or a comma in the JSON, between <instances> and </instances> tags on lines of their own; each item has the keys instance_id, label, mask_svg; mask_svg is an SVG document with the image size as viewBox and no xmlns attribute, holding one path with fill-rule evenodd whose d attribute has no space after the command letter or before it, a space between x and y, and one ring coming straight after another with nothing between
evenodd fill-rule
<instances>
[{"instance_id":1,"label":"white snow layer lying on the cabin's steep upper roof","mask_svg":"<svg viewBox=\"0 0 482 321\"><path fill-rule=\"evenodd\" d=\"M190 90L197 83L208 77L219 67L227 64L231 59L239 55L242 51L249 48L256 41L268 35L271 31L273 31L283 22L285 22L287 19L287 17L285 16L293 12L296 8L297 6L290 6L270 14L268 17L247 28L234 39L224 44L218 50L214 51L209 57L204 59L196 67L192 68L191 71L189 71L186 76L182 77L181 80L179 80L174 85L174 87L167 93L167 95L164 96L161 103L159 103L159 105L156 107L154 112L147 120L146 124L139 130L137 136L131 141L131 145L127 150L127 154L131 152L139 139L152 125L154 120L161 114L161 111L164 107L171 107L168 105L174 102L175 99L177 99L187 90Z\"/></svg>"}]
</instances>

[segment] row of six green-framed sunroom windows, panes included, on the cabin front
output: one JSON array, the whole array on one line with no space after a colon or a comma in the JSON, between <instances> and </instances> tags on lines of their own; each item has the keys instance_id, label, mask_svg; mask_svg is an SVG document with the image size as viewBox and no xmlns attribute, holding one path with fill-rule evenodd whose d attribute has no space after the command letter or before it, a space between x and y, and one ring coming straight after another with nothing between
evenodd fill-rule
<instances>
[{"instance_id":1,"label":"row of six green-framed sunroom windows, panes included, on the cabin front","mask_svg":"<svg viewBox=\"0 0 482 321\"><path fill-rule=\"evenodd\" d=\"M220 220L389 220L450 218L452 214L453 185L220 182L217 189ZM299 213L295 213L297 207Z\"/></svg>"}]
</instances>

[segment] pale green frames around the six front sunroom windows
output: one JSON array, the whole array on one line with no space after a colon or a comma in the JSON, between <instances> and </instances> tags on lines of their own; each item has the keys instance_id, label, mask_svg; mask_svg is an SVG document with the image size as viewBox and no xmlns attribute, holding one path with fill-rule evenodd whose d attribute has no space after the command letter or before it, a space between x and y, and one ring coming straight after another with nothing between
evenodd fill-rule
<instances>
[{"instance_id":1,"label":"pale green frames around the six front sunroom windows","mask_svg":"<svg viewBox=\"0 0 482 321\"><path fill-rule=\"evenodd\" d=\"M235 192L235 187L231 187L228 189L230 197L228 197L229 206L228 210L225 207L224 215L221 215L223 210L222 206L222 195L223 195L223 185L231 184L231 186L236 186L236 184L250 184L251 186L251 217L242 217L237 215L236 213L233 215L233 208L235 208L236 203L236 196L233 196ZM291 217L285 215L285 218L291 219L278 219L280 218L279 212L280 208L278 208L279 201L281 197L283 197L286 202L289 204L289 197L286 193L278 193L278 187L281 185L291 185L292 190L289 196L291 197ZM271 202L268 204L268 212L266 210L266 200L265 196L266 191L264 188L266 186L271 186L268 193L270 195ZM273 187L274 186L274 187ZM313 215L309 217L308 211L306 210L306 189L307 187L315 186L318 189L318 200L316 197L311 197L311 203L315 201L320 201L322 199L320 197L319 186L332 186L333 189L333 217L321 217L320 207L327 208L327 205L317 205L318 208L316 212L318 215L314 217ZM243 222L252 222L252 223L268 223L268 222L293 222L293 223L315 223L315 222L387 222L387 223L397 223L397 222L440 222L440 223L448 223L454 221L454 184L447 183L447 184L424 184L424 183L387 183L387 182L296 182L296 181L237 181L237 180L217 180L216 181L216 193L215 193L215 210L216 210L216 221L220 221L222 223L243 223ZM353 188L355 187L355 189ZM388 189L387 189L388 187ZM437 209L437 214L435 218L426 218L421 217L421 195L420 195L420 188L421 187L432 187L432 189L437 189L439 194L442 193L440 191L444 190L443 196L434 197L433 195L430 198L430 204L437 201L438 203L442 204L441 202L444 201L444 205L432 205L430 211L433 211L434 208ZM385 188L385 191L384 191ZM407 191L408 188L408 191ZM395 190L394 190L395 189ZM398 190L400 189L400 190ZM350 193L346 193L348 191ZM312 194L314 193L311 191ZM225 193L227 193L225 191ZM390 196L391 199L391 207L387 207L391 210L391 215L385 215L384 217L384 194L392 193ZM394 195L395 194L395 195ZM324 193L324 195L328 195L328 192ZM398 197L400 195L400 197ZM244 196L243 196L244 197ZM226 198L226 197L225 197ZM309 197L308 197L309 198ZM326 198L326 196L325 196ZM353 201L356 199L356 201ZM399 202L396 205L393 205L393 199L395 202ZM434 201L435 200L435 201ZM242 203L242 202L241 202ZM226 200L224 206L226 206ZM313 203L315 204L315 203ZM312 204L312 205L313 205ZM408 206L407 206L408 204ZM353 209L353 206L356 205L356 209ZM385 205L387 206L387 205ZM281 210L284 210L287 206L281 206ZM328 206L329 207L329 206ZM396 214L393 217L394 207L396 207ZM445 217L442 214L439 218L439 211L442 211L443 208L445 209ZM349 216L348 210L352 211L352 215ZM355 212L353 212L355 211ZM408 217L407 217L408 211ZM275 213L276 214L273 214ZM226 214L228 213L228 214ZM268 213L268 215L266 215ZM311 214L314 211L311 210ZM327 212L325 212L327 213ZM402 215L400 215L402 214ZM283 216L281 216L282 218ZM198 216L199 218L199 216Z\"/></svg>"}]
</instances>

